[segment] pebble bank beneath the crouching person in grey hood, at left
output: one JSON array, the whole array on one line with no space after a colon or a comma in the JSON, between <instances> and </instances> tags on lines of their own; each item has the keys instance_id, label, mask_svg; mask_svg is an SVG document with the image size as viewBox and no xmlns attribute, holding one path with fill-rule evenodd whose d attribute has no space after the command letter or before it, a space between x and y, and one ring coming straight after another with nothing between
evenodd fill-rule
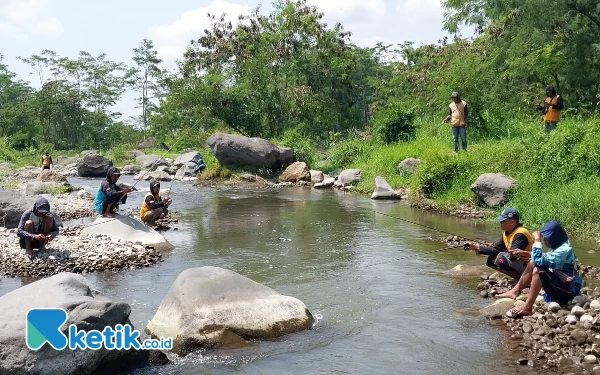
<instances>
[{"instance_id":1,"label":"pebble bank beneath the crouching person in grey hood, at left","mask_svg":"<svg viewBox=\"0 0 600 375\"><path fill-rule=\"evenodd\" d=\"M162 261L161 254L139 243L81 234L82 226L64 228L46 251L33 261L19 247L14 229L0 228L0 275L42 277L60 272L86 273L149 267Z\"/></svg>"}]
</instances>

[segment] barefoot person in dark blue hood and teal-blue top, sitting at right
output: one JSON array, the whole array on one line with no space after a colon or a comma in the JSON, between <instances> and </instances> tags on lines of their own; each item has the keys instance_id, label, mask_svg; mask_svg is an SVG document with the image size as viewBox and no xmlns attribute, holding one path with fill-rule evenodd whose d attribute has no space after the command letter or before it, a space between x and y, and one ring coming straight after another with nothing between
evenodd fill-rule
<instances>
[{"instance_id":1,"label":"barefoot person in dark blue hood and teal-blue top, sitting at right","mask_svg":"<svg viewBox=\"0 0 600 375\"><path fill-rule=\"evenodd\" d=\"M550 248L547 253L542 252L542 237L544 244ZM550 220L540 231L533 233L533 238L535 243L531 252L532 259L523 276L514 288L497 296L516 299L529 286L525 304L506 313L510 318L531 315L535 299L542 288L546 302L557 302L563 306L581 291L583 283L577 271L577 258L563 227L556 220Z\"/></svg>"}]
</instances>

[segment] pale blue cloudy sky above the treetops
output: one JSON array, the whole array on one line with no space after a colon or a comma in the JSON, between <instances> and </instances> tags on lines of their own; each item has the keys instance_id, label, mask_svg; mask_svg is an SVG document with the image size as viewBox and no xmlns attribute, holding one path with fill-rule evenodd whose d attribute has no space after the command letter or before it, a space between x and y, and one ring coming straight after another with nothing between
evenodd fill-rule
<instances>
[{"instance_id":1,"label":"pale blue cloudy sky above the treetops","mask_svg":"<svg viewBox=\"0 0 600 375\"><path fill-rule=\"evenodd\" d=\"M359 46L412 41L437 43L442 31L441 0L309 0L329 25L340 22ZM256 6L268 14L272 2L260 0L0 0L0 54L19 78L39 86L37 76L18 56L44 49L75 58L79 51L132 64L132 50L152 39L166 66L174 66L189 41L209 25L206 13L232 20ZM114 110L137 115L129 93Z\"/></svg>"}]
</instances>

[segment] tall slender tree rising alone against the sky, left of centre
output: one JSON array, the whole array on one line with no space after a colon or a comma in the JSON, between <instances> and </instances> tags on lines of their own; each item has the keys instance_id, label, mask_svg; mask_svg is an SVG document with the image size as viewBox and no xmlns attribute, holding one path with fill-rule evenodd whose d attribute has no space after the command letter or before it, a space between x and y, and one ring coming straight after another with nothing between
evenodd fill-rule
<instances>
[{"instance_id":1,"label":"tall slender tree rising alone against the sky, left of centre","mask_svg":"<svg viewBox=\"0 0 600 375\"><path fill-rule=\"evenodd\" d=\"M154 43L144 39L139 47L133 49L133 61L136 66L130 69L126 75L127 83L140 94L136 100L139 108L142 108L140 123L144 131L144 138L148 130L150 115L156 109L153 100L158 99L162 94L160 81L164 71L159 66L162 60L157 55Z\"/></svg>"}]
</instances>

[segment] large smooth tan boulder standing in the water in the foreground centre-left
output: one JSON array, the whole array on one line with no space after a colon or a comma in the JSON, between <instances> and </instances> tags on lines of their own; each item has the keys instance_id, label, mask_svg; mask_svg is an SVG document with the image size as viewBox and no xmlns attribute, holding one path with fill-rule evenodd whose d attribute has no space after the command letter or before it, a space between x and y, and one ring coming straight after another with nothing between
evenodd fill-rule
<instances>
[{"instance_id":1,"label":"large smooth tan boulder standing in the water in the foreground centre-left","mask_svg":"<svg viewBox=\"0 0 600 375\"><path fill-rule=\"evenodd\" d=\"M173 337L185 355L207 347L236 347L309 329L313 317L302 301L218 267L183 271L148 322L146 332Z\"/></svg>"}]
</instances>

